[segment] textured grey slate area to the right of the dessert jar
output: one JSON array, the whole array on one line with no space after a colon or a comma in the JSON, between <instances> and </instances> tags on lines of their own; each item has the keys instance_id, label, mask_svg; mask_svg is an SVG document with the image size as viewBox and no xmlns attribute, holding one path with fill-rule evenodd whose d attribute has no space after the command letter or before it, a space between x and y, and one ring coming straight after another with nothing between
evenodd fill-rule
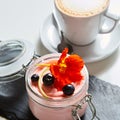
<instances>
[{"instance_id":1,"label":"textured grey slate area to the right of the dessert jar","mask_svg":"<svg viewBox=\"0 0 120 120\"><path fill-rule=\"evenodd\" d=\"M90 76L89 93L100 120L120 120L120 87ZM83 120L90 120L90 116L87 110Z\"/></svg>"}]
</instances>

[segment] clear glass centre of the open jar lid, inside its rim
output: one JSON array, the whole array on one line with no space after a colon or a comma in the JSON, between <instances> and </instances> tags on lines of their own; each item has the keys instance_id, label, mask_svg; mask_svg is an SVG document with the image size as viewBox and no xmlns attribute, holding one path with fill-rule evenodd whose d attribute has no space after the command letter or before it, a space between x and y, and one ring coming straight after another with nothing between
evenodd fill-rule
<instances>
[{"instance_id":1,"label":"clear glass centre of the open jar lid, inside its rim","mask_svg":"<svg viewBox=\"0 0 120 120\"><path fill-rule=\"evenodd\" d=\"M0 66L11 64L25 52L24 44L20 41L7 41L0 44Z\"/></svg>"}]
</instances>

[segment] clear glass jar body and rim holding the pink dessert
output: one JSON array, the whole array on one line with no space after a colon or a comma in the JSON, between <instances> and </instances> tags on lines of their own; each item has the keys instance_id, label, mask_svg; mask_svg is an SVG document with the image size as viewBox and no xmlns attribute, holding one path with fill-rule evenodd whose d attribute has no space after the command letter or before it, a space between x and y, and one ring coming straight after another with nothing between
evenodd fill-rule
<instances>
[{"instance_id":1,"label":"clear glass jar body and rim holding the pink dessert","mask_svg":"<svg viewBox=\"0 0 120 120\"><path fill-rule=\"evenodd\" d=\"M36 59L26 71L25 80L29 96L29 106L33 115L40 120L80 120L79 116L82 116L87 108L86 96L88 93L89 75L85 66L82 70L84 73L84 83L70 97L63 97L62 99L45 98L32 88L31 76L37 69L36 64L58 59L60 55L59 53L44 55Z\"/></svg>"}]
</instances>

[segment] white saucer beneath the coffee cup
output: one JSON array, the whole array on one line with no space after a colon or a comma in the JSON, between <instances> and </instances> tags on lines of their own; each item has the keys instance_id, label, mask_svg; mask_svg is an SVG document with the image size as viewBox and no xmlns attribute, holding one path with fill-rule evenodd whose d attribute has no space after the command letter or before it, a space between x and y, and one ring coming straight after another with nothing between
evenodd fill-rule
<instances>
[{"instance_id":1,"label":"white saucer beneath the coffee cup","mask_svg":"<svg viewBox=\"0 0 120 120\"><path fill-rule=\"evenodd\" d=\"M41 29L41 42L50 52L57 52L60 36L55 21L50 14ZM73 51L79 54L86 63L100 61L110 56L120 45L120 23L109 34L98 34L96 40L87 46L72 45Z\"/></svg>"}]
</instances>

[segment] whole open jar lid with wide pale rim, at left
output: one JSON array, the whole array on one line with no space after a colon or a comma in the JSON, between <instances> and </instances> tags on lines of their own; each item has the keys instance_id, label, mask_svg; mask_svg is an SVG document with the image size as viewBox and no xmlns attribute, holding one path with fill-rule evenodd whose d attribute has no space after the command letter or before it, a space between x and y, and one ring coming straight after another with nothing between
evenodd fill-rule
<instances>
[{"instance_id":1,"label":"whole open jar lid with wide pale rim, at left","mask_svg":"<svg viewBox=\"0 0 120 120\"><path fill-rule=\"evenodd\" d=\"M25 40L0 41L0 77L22 70L34 56L33 45Z\"/></svg>"}]
</instances>

